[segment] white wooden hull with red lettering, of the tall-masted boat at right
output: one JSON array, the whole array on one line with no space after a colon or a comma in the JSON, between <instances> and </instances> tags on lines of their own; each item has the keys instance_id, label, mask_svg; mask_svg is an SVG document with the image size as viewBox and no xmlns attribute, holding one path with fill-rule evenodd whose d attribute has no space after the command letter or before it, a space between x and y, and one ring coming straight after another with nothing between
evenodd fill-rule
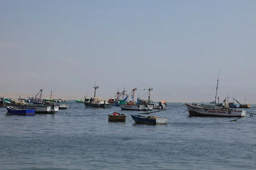
<instances>
[{"instance_id":1,"label":"white wooden hull with red lettering, of the tall-masted boat at right","mask_svg":"<svg viewBox=\"0 0 256 170\"><path fill-rule=\"evenodd\" d=\"M214 117L244 117L246 111L231 111L223 109L202 108L186 104L189 116L214 116Z\"/></svg>"}]
</instances>

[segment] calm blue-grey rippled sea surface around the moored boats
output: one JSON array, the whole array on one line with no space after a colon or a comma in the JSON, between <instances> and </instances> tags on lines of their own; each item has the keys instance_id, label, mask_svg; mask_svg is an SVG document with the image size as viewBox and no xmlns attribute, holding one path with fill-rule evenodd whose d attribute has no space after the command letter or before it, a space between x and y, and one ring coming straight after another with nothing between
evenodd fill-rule
<instances>
[{"instance_id":1,"label":"calm blue-grey rippled sea surface around the moored boats","mask_svg":"<svg viewBox=\"0 0 256 170\"><path fill-rule=\"evenodd\" d=\"M256 169L256 115L236 122L189 117L186 106L168 103L168 110L149 114L169 119L167 125L137 125L131 113L143 112L125 111L126 122L113 123L108 112L119 107L67 104L55 115L14 116L0 108L0 169Z\"/></svg>"}]
</instances>

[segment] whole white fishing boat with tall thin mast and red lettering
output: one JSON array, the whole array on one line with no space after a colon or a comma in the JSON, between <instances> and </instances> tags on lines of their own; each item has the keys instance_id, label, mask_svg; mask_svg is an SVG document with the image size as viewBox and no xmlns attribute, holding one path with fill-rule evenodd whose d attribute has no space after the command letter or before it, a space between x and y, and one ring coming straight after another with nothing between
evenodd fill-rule
<instances>
[{"instance_id":1,"label":"whole white fishing boat with tall thin mast and red lettering","mask_svg":"<svg viewBox=\"0 0 256 170\"><path fill-rule=\"evenodd\" d=\"M219 77L219 76L218 76ZM189 116L218 116L218 117L244 117L246 111L236 111L230 109L226 99L224 99L223 104L216 103L218 91L218 80L215 95L215 105L214 106L204 106L204 105L189 105L186 104L187 110L189 111ZM216 105L217 104L217 105Z\"/></svg>"}]
</instances>

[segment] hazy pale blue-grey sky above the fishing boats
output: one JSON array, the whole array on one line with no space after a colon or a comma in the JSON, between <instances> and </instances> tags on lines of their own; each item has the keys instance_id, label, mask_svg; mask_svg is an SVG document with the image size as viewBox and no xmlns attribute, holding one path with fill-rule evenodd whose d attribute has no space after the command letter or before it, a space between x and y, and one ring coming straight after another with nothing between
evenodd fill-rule
<instances>
[{"instance_id":1,"label":"hazy pale blue-grey sky above the fishing boats","mask_svg":"<svg viewBox=\"0 0 256 170\"><path fill-rule=\"evenodd\" d=\"M255 0L0 0L0 95L256 103ZM219 78L218 78L219 71ZM136 91L137 97L139 91ZM140 91L144 94L144 91ZM246 100L245 100L246 99Z\"/></svg>"}]
</instances>

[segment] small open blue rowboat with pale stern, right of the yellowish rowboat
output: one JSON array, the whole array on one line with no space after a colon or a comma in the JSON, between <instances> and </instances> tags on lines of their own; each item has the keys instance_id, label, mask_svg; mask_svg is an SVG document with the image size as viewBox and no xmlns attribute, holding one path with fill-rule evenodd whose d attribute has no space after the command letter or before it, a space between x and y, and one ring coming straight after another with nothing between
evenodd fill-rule
<instances>
[{"instance_id":1,"label":"small open blue rowboat with pale stern, right of the yellowish rowboat","mask_svg":"<svg viewBox=\"0 0 256 170\"><path fill-rule=\"evenodd\" d=\"M146 124L146 125L161 125L167 124L168 119L160 119L157 116L141 116L138 114L131 114L132 119L135 123Z\"/></svg>"}]
</instances>

